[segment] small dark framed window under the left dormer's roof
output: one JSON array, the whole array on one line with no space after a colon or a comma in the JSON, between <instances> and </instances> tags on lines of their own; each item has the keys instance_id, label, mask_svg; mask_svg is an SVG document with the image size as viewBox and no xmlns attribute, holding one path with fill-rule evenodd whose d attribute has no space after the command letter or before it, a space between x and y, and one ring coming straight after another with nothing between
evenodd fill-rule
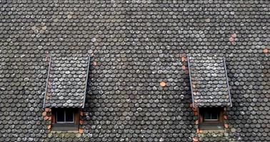
<instances>
[{"instance_id":1,"label":"small dark framed window under the left dormer's roof","mask_svg":"<svg viewBox=\"0 0 270 142\"><path fill-rule=\"evenodd\" d=\"M77 131L79 130L78 109L52 109L52 130Z\"/></svg>"}]
</instances>

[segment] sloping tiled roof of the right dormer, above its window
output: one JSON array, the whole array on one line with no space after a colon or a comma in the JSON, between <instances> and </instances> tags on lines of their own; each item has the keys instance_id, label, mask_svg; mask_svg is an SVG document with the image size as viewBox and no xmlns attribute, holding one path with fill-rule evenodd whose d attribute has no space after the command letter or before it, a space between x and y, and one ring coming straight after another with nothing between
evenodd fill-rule
<instances>
[{"instance_id":1,"label":"sloping tiled roof of the right dormer, above its window","mask_svg":"<svg viewBox=\"0 0 270 142\"><path fill-rule=\"evenodd\" d=\"M194 106L230 106L225 59L213 54L194 54L188 58Z\"/></svg>"}]
</instances>

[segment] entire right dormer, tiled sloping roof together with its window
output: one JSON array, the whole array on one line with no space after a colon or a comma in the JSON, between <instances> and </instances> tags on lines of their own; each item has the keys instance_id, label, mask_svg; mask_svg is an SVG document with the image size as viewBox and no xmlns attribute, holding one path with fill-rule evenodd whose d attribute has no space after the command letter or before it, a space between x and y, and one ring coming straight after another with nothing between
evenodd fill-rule
<instances>
[{"instance_id":1,"label":"entire right dormer, tiled sloping roof together with its window","mask_svg":"<svg viewBox=\"0 0 270 142\"><path fill-rule=\"evenodd\" d=\"M192 105L199 108L199 129L224 129L224 108L231 107L225 58L194 54L188 58Z\"/></svg>"}]
</instances>

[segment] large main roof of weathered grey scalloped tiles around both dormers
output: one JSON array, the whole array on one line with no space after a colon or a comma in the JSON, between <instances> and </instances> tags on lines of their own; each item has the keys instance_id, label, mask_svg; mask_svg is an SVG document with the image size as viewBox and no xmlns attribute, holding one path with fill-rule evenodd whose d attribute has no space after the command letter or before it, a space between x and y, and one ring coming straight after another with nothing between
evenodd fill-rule
<instances>
[{"instance_id":1,"label":"large main roof of weathered grey scalloped tiles around both dormers","mask_svg":"<svg viewBox=\"0 0 270 142\"><path fill-rule=\"evenodd\" d=\"M0 141L270 141L269 2L1 1ZM226 58L224 133L196 133L199 53ZM91 57L81 135L46 127L49 55Z\"/></svg>"}]
</instances>

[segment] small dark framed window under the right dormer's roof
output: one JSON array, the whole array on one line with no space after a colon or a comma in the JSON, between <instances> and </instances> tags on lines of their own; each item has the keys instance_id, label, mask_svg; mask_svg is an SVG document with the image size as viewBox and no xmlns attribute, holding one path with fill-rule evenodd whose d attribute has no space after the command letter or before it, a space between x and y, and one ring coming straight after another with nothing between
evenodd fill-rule
<instances>
[{"instance_id":1,"label":"small dark framed window under the right dormer's roof","mask_svg":"<svg viewBox=\"0 0 270 142\"><path fill-rule=\"evenodd\" d=\"M224 108L221 107L199 108L199 129L202 130L224 129Z\"/></svg>"}]
</instances>

